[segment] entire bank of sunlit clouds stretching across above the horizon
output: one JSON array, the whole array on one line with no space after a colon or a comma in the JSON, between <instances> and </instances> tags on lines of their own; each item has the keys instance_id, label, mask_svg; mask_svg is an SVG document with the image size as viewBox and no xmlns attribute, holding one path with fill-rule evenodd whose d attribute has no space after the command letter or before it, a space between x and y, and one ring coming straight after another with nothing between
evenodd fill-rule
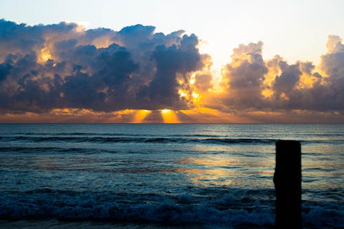
<instances>
[{"instance_id":1,"label":"entire bank of sunlit clouds stretching across above the horizon","mask_svg":"<svg viewBox=\"0 0 344 229\"><path fill-rule=\"evenodd\" d=\"M328 36L319 66L290 64L279 55L264 60L261 41L239 45L215 85L211 56L200 54L195 34L154 30L1 19L0 113L171 109L190 121L192 113L182 110L202 108L259 122L287 113L344 122L344 45L338 36Z\"/></svg>"}]
</instances>

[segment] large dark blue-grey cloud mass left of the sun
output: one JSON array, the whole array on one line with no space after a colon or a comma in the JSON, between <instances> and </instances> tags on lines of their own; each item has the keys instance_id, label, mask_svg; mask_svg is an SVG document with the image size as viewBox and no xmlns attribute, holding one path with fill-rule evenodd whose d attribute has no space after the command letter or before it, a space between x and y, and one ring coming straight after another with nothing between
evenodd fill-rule
<instances>
[{"instance_id":1,"label":"large dark blue-grey cloud mass left of the sun","mask_svg":"<svg viewBox=\"0 0 344 229\"><path fill-rule=\"evenodd\" d=\"M178 78L189 82L205 66L198 38L154 30L0 20L0 110L188 109L192 101L180 98Z\"/></svg>"}]
</instances>

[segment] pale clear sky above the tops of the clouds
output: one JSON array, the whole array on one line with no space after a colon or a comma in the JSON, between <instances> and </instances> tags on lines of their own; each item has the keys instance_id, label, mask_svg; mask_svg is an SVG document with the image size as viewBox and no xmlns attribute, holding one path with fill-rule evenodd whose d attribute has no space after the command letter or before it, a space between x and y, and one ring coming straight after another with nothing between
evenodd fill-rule
<instances>
[{"instance_id":1,"label":"pale clear sky above the tops of the clouds","mask_svg":"<svg viewBox=\"0 0 344 229\"><path fill-rule=\"evenodd\" d=\"M142 24L156 32L185 30L208 43L204 51L221 67L238 44L257 41L264 42L264 58L278 53L291 62L318 63L326 36L344 36L343 8L341 0L1 0L0 17L28 25L71 21L89 29Z\"/></svg>"}]
</instances>

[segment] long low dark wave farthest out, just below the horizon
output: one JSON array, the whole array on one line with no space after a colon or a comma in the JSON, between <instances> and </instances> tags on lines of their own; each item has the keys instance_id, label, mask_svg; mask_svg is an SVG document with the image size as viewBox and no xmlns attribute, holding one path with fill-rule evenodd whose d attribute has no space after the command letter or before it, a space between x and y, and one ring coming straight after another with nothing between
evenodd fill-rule
<instances>
[{"instance_id":1,"label":"long low dark wave farthest out, just below the horizon","mask_svg":"<svg viewBox=\"0 0 344 229\"><path fill-rule=\"evenodd\" d=\"M0 136L2 142L90 142L90 143L178 143L178 144L275 144L276 139L260 138L166 138L103 136Z\"/></svg>"}]
</instances>

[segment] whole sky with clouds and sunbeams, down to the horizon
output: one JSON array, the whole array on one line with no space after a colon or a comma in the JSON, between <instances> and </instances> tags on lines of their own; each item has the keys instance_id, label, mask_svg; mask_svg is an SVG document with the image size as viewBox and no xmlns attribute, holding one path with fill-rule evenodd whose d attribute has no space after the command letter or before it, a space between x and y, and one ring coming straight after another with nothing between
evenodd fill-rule
<instances>
[{"instance_id":1,"label":"whole sky with clouds and sunbeams, down to the horizon","mask_svg":"<svg viewBox=\"0 0 344 229\"><path fill-rule=\"evenodd\" d=\"M343 8L2 0L0 122L344 122Z\"/></svg>"}]
</instances>

